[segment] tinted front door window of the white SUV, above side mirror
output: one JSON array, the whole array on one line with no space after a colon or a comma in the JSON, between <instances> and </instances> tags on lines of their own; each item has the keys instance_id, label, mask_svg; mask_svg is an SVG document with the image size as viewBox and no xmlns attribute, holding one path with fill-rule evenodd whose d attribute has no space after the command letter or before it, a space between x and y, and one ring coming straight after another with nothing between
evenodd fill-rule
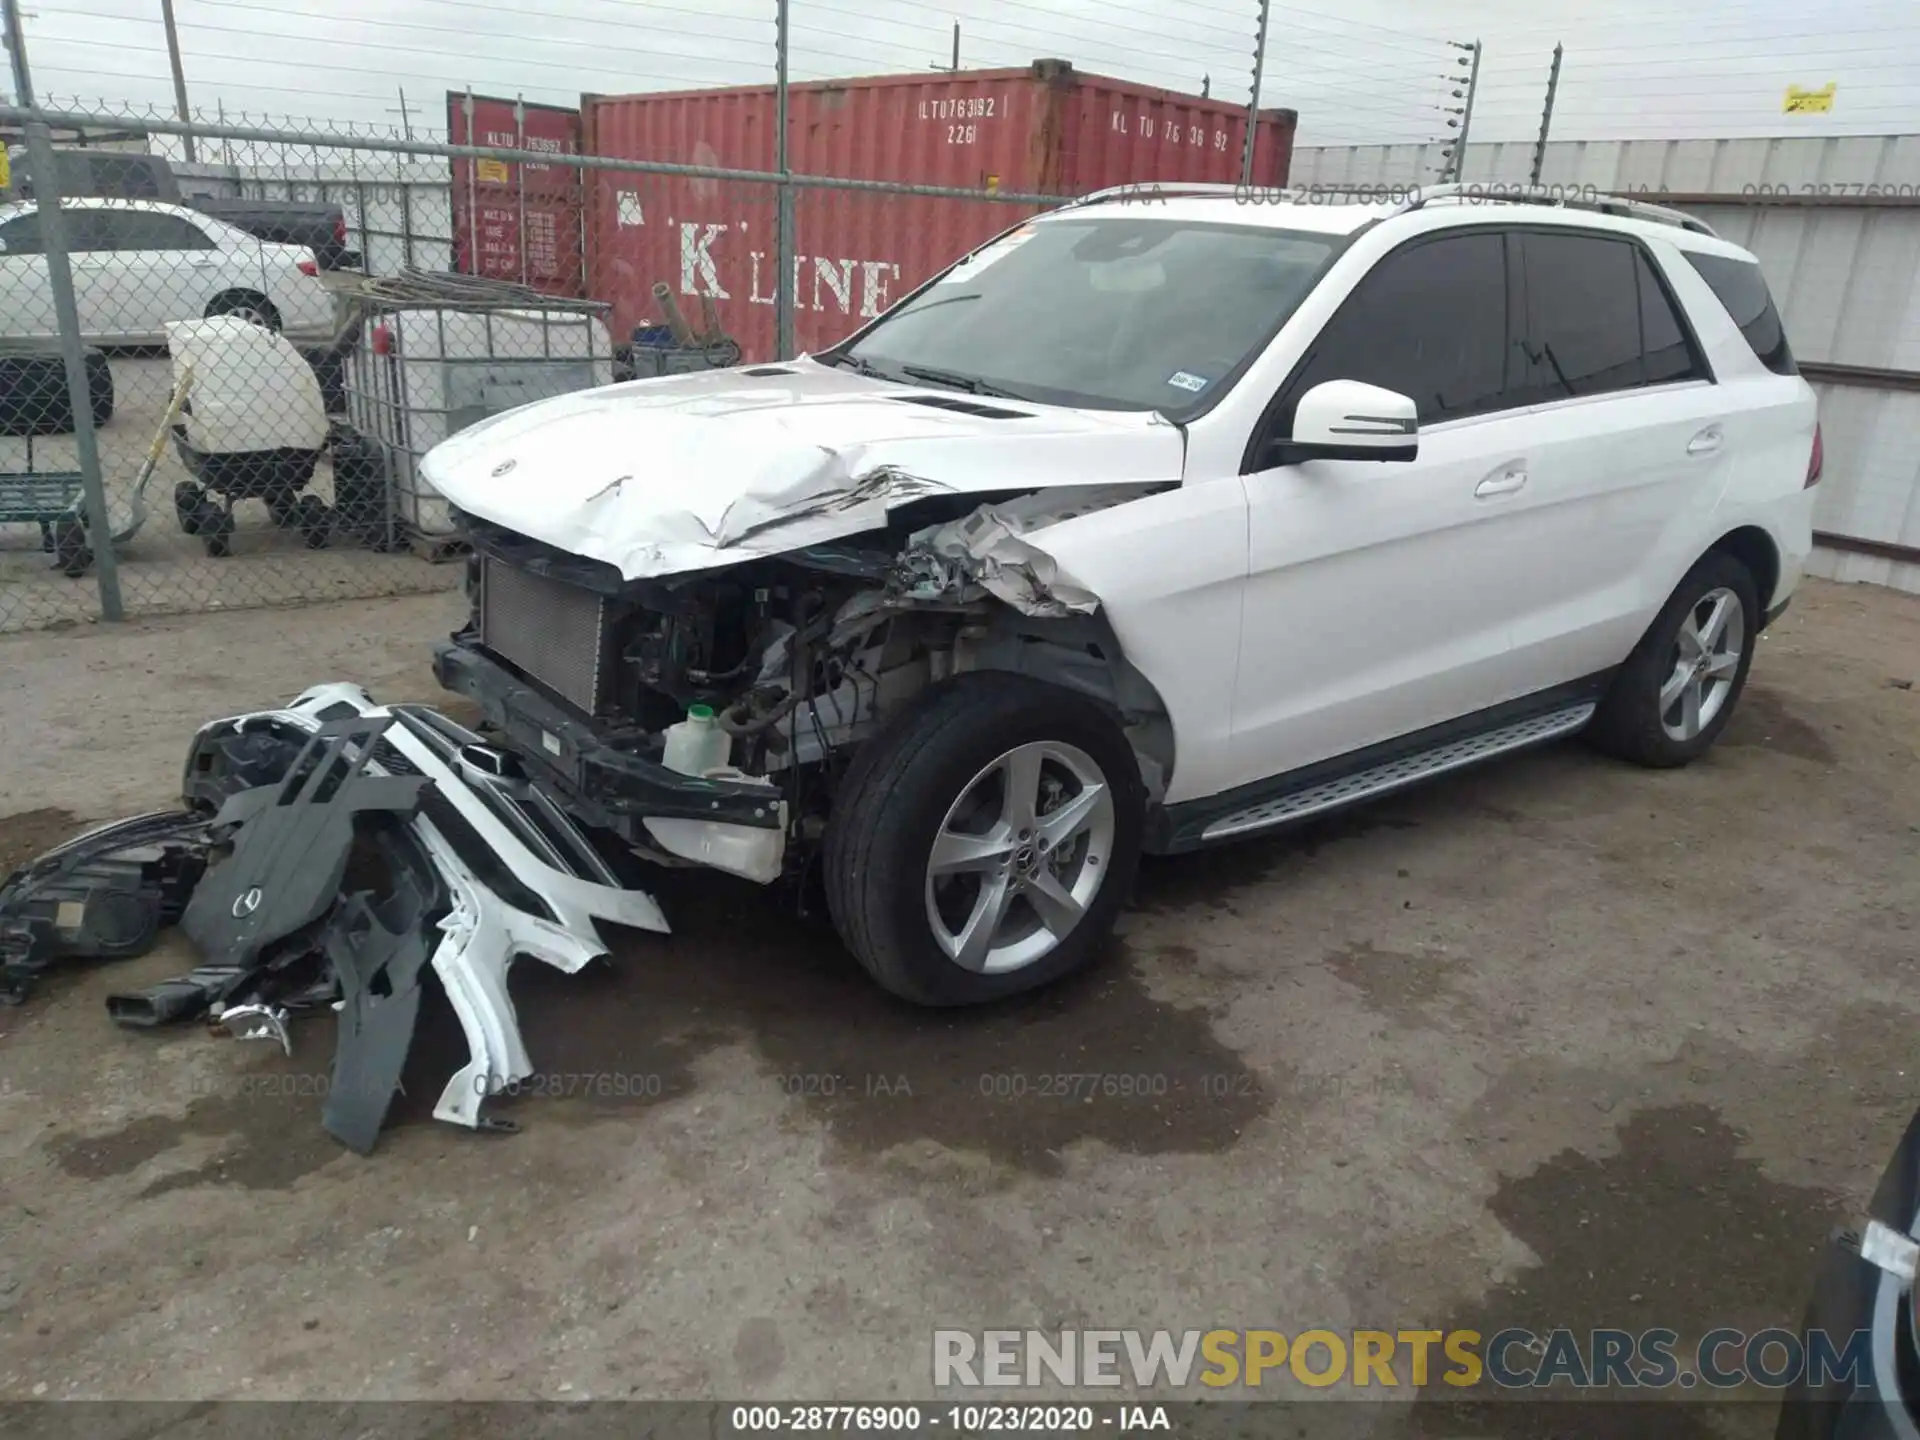
<instances>
[{"instance_id":1,"label":"tinted front door window of the white SUV, above side mirror","mask_svg":"<svg viewBox=\"0 0 1920 1440\"><path fill-rule=\"evenodd\" d=\"M1382 259L1327 321L1286 386L1275 434L1323 380L1363 380L1413 399L1421 424L1509 405L1505 238L1427 240Z\"/></svg>"}]
</instances>

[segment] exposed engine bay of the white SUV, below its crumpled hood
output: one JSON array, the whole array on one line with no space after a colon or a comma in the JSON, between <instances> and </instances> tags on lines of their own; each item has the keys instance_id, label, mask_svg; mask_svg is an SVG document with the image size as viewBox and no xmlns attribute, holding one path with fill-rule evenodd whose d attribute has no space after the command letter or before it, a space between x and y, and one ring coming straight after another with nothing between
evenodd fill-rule
<instances>
[{"instance_id":1,"label":"exposed engine bay of the white SUV, below its crumpled hood","mask_svg":"<svg viewBox=\"0 0 1920 1440\"><path fill-rule=\"evenodd\" d=\"M589 778L568 774L572 747L557 730L536 737L507 728L516 749L557 770L557 787L591 824L651 858L766 883L812 854L852 749L948 676L1044 672L1112 703L1129 726L1164 718L1152 687L1121 659L1098 599L1023 540L1152 490L1079 486L985 503L977 493L925 495L879 530L643 580L463 516L474 545L472 614L453 641L559 701L595 747L732 787L758 785L774 806L762 828L776 833L647 804L624 816L601 803ZM476 682L449 682L447 666L440 670L486 708ZM687 768L674 756L674 730L708 724L708 714L718 739L707 760L718 764ZM1165 766L1162 741L1142 737L1142 760Z\"/></svg>"}]
</instances>

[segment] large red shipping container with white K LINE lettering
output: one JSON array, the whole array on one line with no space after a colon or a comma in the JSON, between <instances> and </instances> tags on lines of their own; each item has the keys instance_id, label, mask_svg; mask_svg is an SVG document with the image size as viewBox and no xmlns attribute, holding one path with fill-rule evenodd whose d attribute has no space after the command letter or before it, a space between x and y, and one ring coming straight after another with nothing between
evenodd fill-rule
<instances>
[{"instance_id":1,"label":"large red shipping container with white K LINE lettering","mask_svg":"<svg viewBox=\"0 0 1920 1440\"><path fill-rule=\"evenodd\" d=\"M1246 108L1083 75L1027 69L814 81L789 90L787 163L801 175L1016 194L1087 194L1150 180L1240 179ZM774 169L774 88L586 96L588 154ZM1296 113L1260 115L1254 184L1286 184ZM751 361L776 355L776 196L770 184L591 171L588 294L614 305L614 338L664 323L666 282L699 326L710 298ZM795 340L822 349L1029 205L856 190L797 190Z\"/></svg>"}]
</instances>

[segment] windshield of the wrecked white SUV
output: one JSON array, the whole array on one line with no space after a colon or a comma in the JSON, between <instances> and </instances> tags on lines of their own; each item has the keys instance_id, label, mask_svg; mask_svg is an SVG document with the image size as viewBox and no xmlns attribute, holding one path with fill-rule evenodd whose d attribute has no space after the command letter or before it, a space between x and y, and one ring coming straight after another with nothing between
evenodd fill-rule
<instances>
[{"instance_id":1,"label":"windshield of the wrecked white SUV","mask_svg":"<svg viewBox=\"0 0 1920 1440\"><path fill-rule=\"evenodd\" d=\"M975 252L841 349L839 363L910 384L1177 419L1292 315L1336 242L1135 215L1048 219Z\"/></svg>"}]
</instances>

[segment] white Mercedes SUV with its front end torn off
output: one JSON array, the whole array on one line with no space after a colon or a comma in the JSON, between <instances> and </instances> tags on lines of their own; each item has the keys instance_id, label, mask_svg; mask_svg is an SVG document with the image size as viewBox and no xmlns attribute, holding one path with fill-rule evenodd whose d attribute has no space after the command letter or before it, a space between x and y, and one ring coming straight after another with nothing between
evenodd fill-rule
<instances>
[{"instance_id":1,"label":"white Mercedes SUV with its front end torn off","mask_svg":"<svg viewBox=\"0 0 1920 1440\"><path fill-rule=\"evenodd\" d=\"M1820 476L1753 255L1613 198L1244 200L1092 196L826 353L447 440L442 685L643 854L818 864L924 1004L1085 964L1142 851L1576 732L1699 756Z\"/></svg>"}]
</instances>

